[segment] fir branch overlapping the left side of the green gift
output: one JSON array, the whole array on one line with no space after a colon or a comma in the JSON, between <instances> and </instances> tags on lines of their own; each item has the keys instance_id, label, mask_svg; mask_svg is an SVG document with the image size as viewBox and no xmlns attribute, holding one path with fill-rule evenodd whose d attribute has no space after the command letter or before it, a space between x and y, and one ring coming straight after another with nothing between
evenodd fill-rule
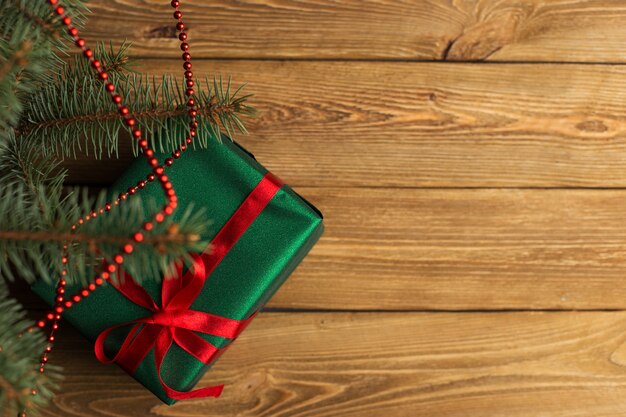
<instances>
[{"instance_id":1,"label":"fir branch overlapping the left side of the green gift","mask_svg":"<svg viewBox=\"0 0 626 417\"><path fill-rule=\"evenodd\" d=\"M33 199L19 185L0 189L0 278L13 279L14 270L27 281L56 278L61 273L63 246L68 244L68 281L86 284L102 261L111 261L121 244L132 238L129 233L141 229L146 214L159 206L152 200L127 200L85 222L74 235L67 231L78 215L103 206L106 194L94 200L86 190L62 195L39 186L36 191L38 198ZM206 248L208 242L199 236L206 234L208 224L204 211L192 207L179 213L176 221L167 218L125 256L125 269L138 281L161 279L175 260L189 262L189 252Z\"/></svg>"}]
</instances>

